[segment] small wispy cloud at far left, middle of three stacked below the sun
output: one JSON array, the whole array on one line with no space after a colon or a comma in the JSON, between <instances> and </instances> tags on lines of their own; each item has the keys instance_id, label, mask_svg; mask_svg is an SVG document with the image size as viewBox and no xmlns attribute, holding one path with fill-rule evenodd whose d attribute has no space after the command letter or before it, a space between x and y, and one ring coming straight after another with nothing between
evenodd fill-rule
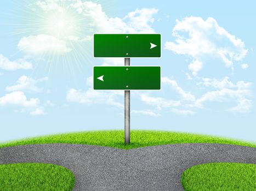
<instances>
[{"instance_id":1,"label":"small wispy cloud at far left, middle of three stacked below the sun","mask_svg":"<svg viewBox=\"0 0 256 191\"><path fill-rule=\"evenodd\" d=\"M8 92L13 91L30 91L30 92L41 92L42 88L36 86L38 82L47 81L48 77L43 77L42 79L32 79L31 77L27 77L22 75L18 81L16 81L16 85L7 86L5 90Z\"/></svg>"}]
</instances>

